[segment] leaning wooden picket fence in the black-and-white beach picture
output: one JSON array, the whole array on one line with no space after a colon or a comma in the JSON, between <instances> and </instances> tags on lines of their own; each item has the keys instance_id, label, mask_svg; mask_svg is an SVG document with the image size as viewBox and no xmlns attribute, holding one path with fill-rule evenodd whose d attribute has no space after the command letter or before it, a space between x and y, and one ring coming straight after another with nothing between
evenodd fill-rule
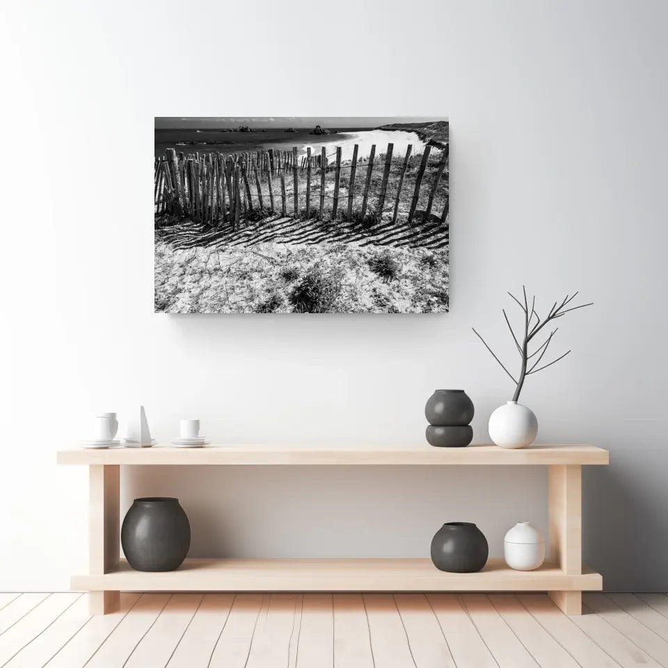
<instances>
[{"instance_id":1,"label":"leaning wooden picket fence in the black-and-white beach picture","mask_svg":"<svg viewBox=\"0 0 668 668\"><path fill-rule=\"evenodd\" d=\"M412 193L406 194L406 201L410 200L407 224L413 224L421 196L427 198L427 203L424 211L420 212L420 221L429 221L433 217L431 212L438 198L438 201L445 202L440 215L436 215L436 219L443 224L447 222L449 195L442 191L439 195L439 186L447 170L449 144L436 145L434 159L431 159L432 148L431 144L427 144L422 154L413 154L413 145L408 145L406 154L395 159L394 145L389 143L382 161L382 175L376 170L375 144L369 150L369 157L361 160L359 145L353 145L349 164L348 161L346 164L342 161L342 148L335 147L333 166L328 164L326 146L321 147L319 155L313 154L309 147L301 157L296 146L291 151L268 149L234 154L220 152L177 154L175 149L168 148L164 156L154 159L154 212L156 216L189 218L212 227L229 224L232 230L239 230L241 222L248 223L251 217L256 221L262 221L267 216L277 216L279 213L280 216L287 217L287 199L292 195L291 213L294 218L303 215L306 219L310 219L317 214L321 220L325 219L325 203L328 200L331 202L331 214L329 214L331 220L337 221L343 218L352 221L356 196L361 194L358 220L364 221L367 210L371 208L370 219L379 221L385 213L385 201L390 198L391 220L392 225L395 225L399 217L404 184L407 175L411 173L415 182ZM358 184L357 171L364 162L366 162L365 175ZM316 189L318 186L317 177L314 179L314 170L316 173L319 170L320 173L319 191L315 193L319 198L316 209L312 208L314 185ZM347 191L345 181L343 186L343 196L347 198L347 206L340 212L341 177L345 170L349 170ZM304 175L303 180L299 178L300 171ZM290 172L292 172L292 193L287 191L286 184L286 175ZM392 173L395 177L390 188ZM427 174L429 181L427 187L423 188ZM280 182L280 212L277 210L278 202L274 196L274 178L278 178ZM327 186L328 179L331 179L329 182L332 184L330 191ZM303 211L299 208L301 188L304 189ZM376 189L377 196L374 195ZM372 205L374 198L376 203Z\"/></svg>"}]
</instances>

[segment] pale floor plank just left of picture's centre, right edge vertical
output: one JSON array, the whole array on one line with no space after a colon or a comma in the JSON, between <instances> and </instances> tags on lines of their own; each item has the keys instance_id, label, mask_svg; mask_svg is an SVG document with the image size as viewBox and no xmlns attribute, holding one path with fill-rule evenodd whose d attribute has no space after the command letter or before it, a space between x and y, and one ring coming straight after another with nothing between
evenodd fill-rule
<instances>
[{"instance_id":1,"label":"pale floor plank just left of picture's centre, right edge vertical","mask_svg":"<svg viewBox=\"0 0 668 668\"><path fill-rule=\"evenodd\" d=\"M334 610L332 594L303 594L296 668L334 665Z\"/></svg>"}]
</instances>

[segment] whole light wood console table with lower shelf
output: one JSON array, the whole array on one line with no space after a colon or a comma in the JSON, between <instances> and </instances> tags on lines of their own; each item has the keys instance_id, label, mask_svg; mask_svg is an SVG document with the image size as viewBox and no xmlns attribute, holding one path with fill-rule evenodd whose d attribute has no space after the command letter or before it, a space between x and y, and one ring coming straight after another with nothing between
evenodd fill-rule
<instances>
[{"instance_id":1,"label":"whole light wood console table with lower shelf","mask_svg":"<svg viewBox=\"0 0 668 668\"><path fill-rule=\"evenodd\" d=\"M437 448L219 445L182 449L64 450L59 464L84 464L90 477L90 565L72 576L90 592L94 614L114 612L132 591L547 591L568 614L581 614L582 591L603 578L582 565L582 466L607 464L593 445ZM120 559L121 466L548 466L550 560L514 571L489 559L479 573L443 573L430 559L186 559L177 571L143 573Z\"/></svg>"}]
</instances>

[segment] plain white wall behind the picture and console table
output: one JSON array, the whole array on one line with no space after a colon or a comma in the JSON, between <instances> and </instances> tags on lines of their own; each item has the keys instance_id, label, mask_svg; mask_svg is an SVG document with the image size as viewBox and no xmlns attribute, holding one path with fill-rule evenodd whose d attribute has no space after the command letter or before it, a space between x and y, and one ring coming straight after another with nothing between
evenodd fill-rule
<instances>
[{"instance_id":1,"label":"plain white wall behind the picture and console table","mask_svg":"<svg viewBox=\"0 0 668 668\"><path fill-rule=\"evenodd\" d=\"M664 307L668 19L661 0L22 1L3 6L0 590L86 566L86 471L55 452L144 403L166 440L420 442L436 387L509 398L507 289L580 289L563 363L527 381L543 442L610 448L588 472L587 559L668 589ZM441 316L152 312L154 115L450 117L452 310ZM492 552L545 527L540 470L124 472L177 495L193 555L427 555L445 520ZM129 474L129 475L128 475Z\"/></svg>"}]
</instances>

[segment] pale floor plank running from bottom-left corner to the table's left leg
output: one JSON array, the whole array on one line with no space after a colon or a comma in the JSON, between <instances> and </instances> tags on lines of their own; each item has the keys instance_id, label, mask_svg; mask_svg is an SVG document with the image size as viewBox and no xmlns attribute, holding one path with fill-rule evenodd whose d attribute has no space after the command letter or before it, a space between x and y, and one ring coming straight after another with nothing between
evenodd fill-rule
<instances>
[{"instance_id":1,"label":"pale floor plank running from bottom-left corner to the table's left leg","mask_svg":"<svg viewBox=\"0 0 668 668\"><path fill-rule=\"evenodd\" d=\"M89 620L88 599L81 594L51 626L43 628L3 668L34 668L45 665Z\"/></svg>"}]
</instances>

